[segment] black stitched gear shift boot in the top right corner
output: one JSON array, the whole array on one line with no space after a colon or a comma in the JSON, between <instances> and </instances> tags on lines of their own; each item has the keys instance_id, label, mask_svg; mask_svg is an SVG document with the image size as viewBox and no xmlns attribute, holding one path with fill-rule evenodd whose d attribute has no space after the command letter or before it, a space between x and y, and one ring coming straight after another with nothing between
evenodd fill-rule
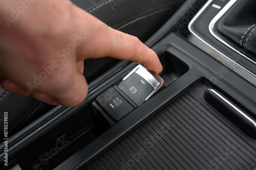
<instances>
[{"instance_id":1,"label":"black stitched gear shift boot in the top right corner","mask_svg":"<svg viewBox=\"0 0 256 170\"><path fill-rule=\"evenodd\" d=\"M220 20L218 30L244 50L256 54L256 1L238 1Z\"/></svg>"}]
</instances>

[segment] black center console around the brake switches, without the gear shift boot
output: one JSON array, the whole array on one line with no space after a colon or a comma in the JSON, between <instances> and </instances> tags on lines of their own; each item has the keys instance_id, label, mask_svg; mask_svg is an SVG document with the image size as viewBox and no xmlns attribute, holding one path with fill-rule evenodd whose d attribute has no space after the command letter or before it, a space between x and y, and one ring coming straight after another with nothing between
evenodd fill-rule
<instances>
[{"instance_id":1,"label":"black center console around the brake switches, without the gear shift boot","mask_svg":"<svg viewBox=\"0 0 256 170\"><path fill-rule=\"evenodd\" d=\"M115 89L137 64L113 67L115 70L108 72L111 76L106 81L100 77L97 81L103 83L90 86L87 99L80 106L55 108L59 114L13 142L8 150L9 166L4 165L3 153L0 168L253 169L255 65L247 58L238 60L241 54L212 38L208 24L203 25L210 20L206 14L200 14L208 11L207 15L214 17L229 1L210 0L203 8L194 8L202 2L193 0L189 9L191 2L182 7L186 11L174 16L176 23L183 20L179 16L185 16L189 22L163 27L175 31L152 47L163 65L159 74L164 81L161 90L140 105L132 105L125 97L133 109L115 119L97 98L106 90ZM191 18L183 14L195 9L201 12L190 22ZM172 24L173 19L169 20ZM163 30L157 35L163 35ZM0 147L4 149L4 144Z\"/></svg>"}]
</instances>

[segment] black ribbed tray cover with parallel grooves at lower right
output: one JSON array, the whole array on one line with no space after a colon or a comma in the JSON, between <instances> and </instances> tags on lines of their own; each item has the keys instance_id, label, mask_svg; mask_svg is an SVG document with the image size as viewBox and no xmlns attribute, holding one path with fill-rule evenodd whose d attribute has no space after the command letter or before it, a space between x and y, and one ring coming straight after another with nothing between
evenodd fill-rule
<instances>
[{"instance_id":1,"label":"black ribbed tray cover with parallel grooves at lower right","mask_svg":"<svg viewBox=\"0 0 256 170\"><path fill-rule=\"evenodd\" d=\"M184 93L85 169L252 169L255 141L224 124L216 110L196 99L196 90Z\"/></svg>"}]
</instances>

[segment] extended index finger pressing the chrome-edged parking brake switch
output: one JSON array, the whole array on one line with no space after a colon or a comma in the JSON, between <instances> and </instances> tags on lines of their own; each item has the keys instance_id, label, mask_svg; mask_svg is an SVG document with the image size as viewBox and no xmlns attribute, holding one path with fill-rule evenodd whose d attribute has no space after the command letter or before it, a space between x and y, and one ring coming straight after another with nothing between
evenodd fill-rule
<instances>
[{"instance_id":1,"label":"extended index finger pressing the chrome-edged parking brake switch","mask_svg":"<svg viewBox=\"0 0 256 170\"><path fill-rule=\"evenodd\" d=\"M120 60L134 61L157 73L162 71L162 65L156 53L137 37L112 29L81 9L77 12L80 16L79 23L83 27L82 34L86 35L86 40L77 51L80 59L108 56Z\"/></svg>"}]
</instances>

